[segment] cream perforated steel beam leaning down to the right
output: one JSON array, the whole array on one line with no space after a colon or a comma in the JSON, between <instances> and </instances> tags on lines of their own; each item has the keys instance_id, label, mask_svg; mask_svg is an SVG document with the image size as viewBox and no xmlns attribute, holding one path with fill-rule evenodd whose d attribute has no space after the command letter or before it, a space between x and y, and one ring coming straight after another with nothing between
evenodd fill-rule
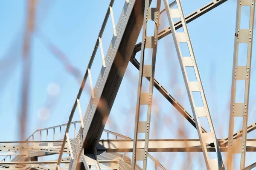
<instances>
[{"instance_id":1,"label":"cream perforated steel beam leaning down to the right","mask_svg":"<svg viewBox=\"0 0 256 170\"><path fill-rule=\"evenodd\" d=\"M189 31L186 26L186 20L183 14L183 9L180 3L180 0L176 0L177 8L170 8L168 0L163 0L166 8L166 14L169 20L170 28L172 30L172 37L175 43L175 48L178 54L180 67L182 70L183 78L186 84L186 89L189 96L189 102L192 107L192 112L195 119L196 128L198 130L198 136L201 142L202 151L204 153L204 159L206 162L207 170L217 170L224 169L224 164L221 157L221 151L218 145L218 141L215 135L214 127L212 124L212 119L209 113L209 107L207 104L207 100L204 94L203 85L201 83L201 77L198 71L198 66L195 60L194 50L192 48L192 43L189 37ZM173 18L180 18L184 32L176 32ZM190 56L183 56L180 50L180 43L186 42L189 48ZM189 81L188 73L186 71L186 67L192 67L195 71L195 77L197 81ZM192 92L200 92L201 99L204 104L203 107L196 107L195 99L193 98ZM207 122L209 124L209 129L211 132L202 133L202 128L199 122L200 117L206 117ZM209 155L207 152L206 145L209 143L214 143L215 151L218 159L209 159Z\"/></svg>"}]
</instances>

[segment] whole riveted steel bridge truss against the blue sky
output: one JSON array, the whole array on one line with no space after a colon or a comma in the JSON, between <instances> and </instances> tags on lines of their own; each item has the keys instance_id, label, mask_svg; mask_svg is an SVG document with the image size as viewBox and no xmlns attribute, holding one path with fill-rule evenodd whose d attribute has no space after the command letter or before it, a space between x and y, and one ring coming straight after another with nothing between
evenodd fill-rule
<instances>
[{"instance_id":1,"label":"whole riveted steel bridge truss against the blue sky","mask_svg":"<svg viewBox=\"0 0 256 170\"><path fill-rule=\"evenodd\" d=\"M165 6L169 27L158 30L161 1ZM227 170L232 168L233 153L241 153L241 170L249 170L256 167L256 163L245 167L245 153L256 151L256 139L247 139L247 133L256 129L256 123L247 126L248 118L248 100L250 87L250 71L251 71L251 51L253 42L253 25L254 25L254 0L237 0L237 17L236 17L236 33L234 45L233 59L233 78L232 93L230 103L230 127L229 137L225 139L217 139L213 127L209 107L204 94L195 53L192 48L192 41L189 37L187 23L195 20L201 15L207 13L213 8L221 5L227 0L213 0L207 5L192 12L188 16L184 16L183 8L180 0L170 3L168 0L157 0L157 7L151 8L151 0L125 0L125 4L120 15L117 26L115 26L113 15L113 3L110 1L102 28L96 40L95 48L87 66L79 93L76 97L68 123L46 129L36 130L25 142L0 142L0 155L6 157L0 162L0 166L5 169L38 169L38 170L61 170L61 169L121 169L121 170L145 170L148 157L154 161L155 168L160 167L163 170L169 169L163 167L160 162L154 159L149 152L202 152L206 163L207 170L224 170L224 162L221 152L227 152ZM174 8L177 5L177 8ZM241 7L250 6L250 22L247 29L240 28ZM106 54L102 48L102 34L105 30L108 17L111 16L113 25L113 37ZM174 23L173 19L180 20ZM148 37L146 34L147 22L153 20L154 36ZM178 28L183 27L183 32L176 32ZM140 30L143 30L143 41L136 44ZM175 48L178 54L180 67L183 73L186 90L192 107L193 116L186 111L183 106L154 78L154 69L157 53L157 41L172 33L175 42ZM189 56L183 56L180 51L180 42L186 42L189 48ZM246 65L238 65L239 44L246 43L248 46ZM90 69L96 55L96 51L100 47L102 56L102 68L96 84L93 87ZM144 64L144 50L152 48L151 65ZM137 61L135 55L141 50L140 62ZM118 92L122 78L125 74L128 62L131 62L139 72L138 95L134 139L122 136L118 133L104 130L105 123L110 114L113 102ZM187 67L192 67L195 71L196 81L189 81L187 76ZM84 85L89 77L91 88L91 98L87 110L83 117L79 99L84 89ZM148 93L142 93L143 77L148 79L150 86ZM243 80L245 83L244 102L236 102L236 83ZM187 119L192 126L198 131L199 139L149 139L151 102L153 87L155 87L163 96ZM199 92L204 103L203 107L197 107L192 93ZM139 121L140 105L147 105L147 119ZM79 109L80 120L72 122L76 108ZM242 130L233 133L234 117L243 118ZM210 131L204 129L199 122L199 118L207 119ZM76 125L80 125L79 132L76 134ZM71 136L70 127L74 126L74 135ZM64 133L61 134L61 127L66 127ZM55 129L58 130L59 138L56 138ZM42 132L46 132L46 140L42 140ZM244 133L243 133L244 132ZM116 136L116 139L100 139L102 133ZM145 139L137 139L138 133L145 133ZM35 135L38 140L35 140ZM49 141L48 136L53 135L53 140ZM241 139L240 139L241 138ZM132 159L126 156L131 152ZM209 159L209 152L216 153L217 159ZM63 157L67 154L67 157ZM38 161L38 157L58 155L58 159L54 161ZM8 161L9 159L9 161ZM138 166L137 161L143 160L143 167Z\"/></svg>"}]
</instances>

